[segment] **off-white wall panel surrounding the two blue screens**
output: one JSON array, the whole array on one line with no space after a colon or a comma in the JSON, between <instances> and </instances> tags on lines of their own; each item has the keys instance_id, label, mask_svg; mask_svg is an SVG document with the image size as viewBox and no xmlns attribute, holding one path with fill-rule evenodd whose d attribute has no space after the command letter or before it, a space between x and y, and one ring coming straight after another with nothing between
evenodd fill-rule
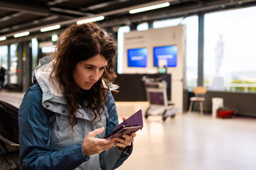
<instances>
[{"instance_id":1,"label":"off-white wall panel surrounding the two blue screens","mask_svg":"<svg viewBox=\"0 0 256 170\"><path fill-rule=\"evenodd\" d=\"M154 74L153 47L177 45L177 66L168 67L167 73L171 74L171 102L183 108L183 77L185 75L185 26L166 28L151 28L149 30L132 30L124 33L124 59L123 74ZM131 48L146 47L148 50L147 67L127 67L127 50Z\"/></svg>"}]
</instances>

